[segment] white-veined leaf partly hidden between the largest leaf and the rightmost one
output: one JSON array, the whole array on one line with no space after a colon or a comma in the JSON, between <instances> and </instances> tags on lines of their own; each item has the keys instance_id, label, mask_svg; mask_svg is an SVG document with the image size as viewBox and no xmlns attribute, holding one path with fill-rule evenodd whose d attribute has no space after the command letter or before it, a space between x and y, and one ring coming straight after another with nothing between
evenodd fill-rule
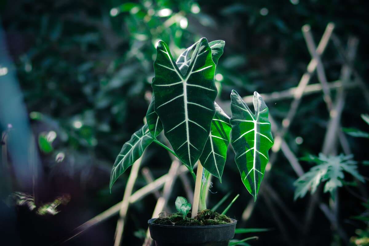
<instances>
[{"instance_id":1,"label":"white-veined leaf partly hidden between the largest leaf and the rightmost one","mask_svg":"<svg viewBox=\"0 0 369 246\"><path fill-rule=\"evenodd\" d=\"M222 174L230 143L230 117L215 103L211 131L200 156L203 167L222 182Z\"/></svg>"}]
</instances>

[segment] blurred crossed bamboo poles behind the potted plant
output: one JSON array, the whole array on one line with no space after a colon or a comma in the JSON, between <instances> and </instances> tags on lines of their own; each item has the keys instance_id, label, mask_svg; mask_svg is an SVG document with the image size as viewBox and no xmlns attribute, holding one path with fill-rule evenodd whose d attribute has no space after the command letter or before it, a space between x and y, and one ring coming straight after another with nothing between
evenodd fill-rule
<instances>
[{"instance_id":1,"label":"blurred crossed bamboo poles behind the potted plant","mask_svg":"<svg viewBox=\"0 0 369 246\"><path fill-rule=\"evenodd\" d=\"M307 233L307 230L309 227L308 225L310 225L309 223L311 223L311 216L313 214L315 206L319 205L319 208L323 211L326 217L330 220L331 224L338 231L341 238L342 239L347 238L344 231L342 231L341 227L339 226L337 218L334 215L334 212L335 212L334 208L328 208L327 205L320 203L317 197L318 193L315 193L315 195L313 195L311 198L311 202L310 202L311 209L310 210L308 209L307 211L306 223L304 227L300 222L294 219L292 212L288 210L286 205L284 205L282 199L279 198L279 195L273 190L273 188L268 184L268 181L267 181L268 171L270 170L270 167L273 165L273 163L276 161L277 153L280 150L282 150L287 160L289 160L289 163L291 164L293 170L296 172L297 176L301 176L304 174L304 171L298 159L296 158L292 150L289 148L287 143L284 141L284 136L288 132L290 123L293 121L296 115L297 109L301 102L301 98L305 95L323 91L324 101L327 105L327 109L330 114L330 121L328 123L327 133L325 135L322 152L325 154L334 153L335 148L336 148L335 142L337 141L337 138L339 142L341 143L342 148L345 150L345 153L347 154L350 152L347 141L345 139L345 135L339 134L339 121L340 121L342 110L343 110L346 90L352 89L355 87L360 87L364 94L365 100L368 103L369 103L369 92L368 92L369 90L366 88L365 84L363 83L363 79L360 77L359 73L352 66L352 60L355 56L356 46L358 43L357 39L355 38L349 39L348 52L346 52L344 48L342 47L341 43L339 42L339 39L334 36L333 30L334 30L334 24L329 23L327 27L325 28L324 34L317 48L315 48L315 44L314 44L314 41L311 35L310 26L304 25L304 27L302 28L302 31L303 31L304 38L308 46L308 50L312 57L310 63L307 66L306 73L304 73L304 75L301 77L300 82L297 87L293 87L285 91L274 92L271 94L262 94L266 102L284 100L286 98L293 98L293 101L290 105L290 109L287 113L287 116L282 121L282 127L278 128L276 122L272 124L272 127L273 127L272 131L275 134L275 144L272 148L273 153L270 156L270 162L268 163L268 166L266 168L266 173L265 173L266 175L264 177L263 186L262 186L264 188L261 187L261 190L260 190L260 194L264 198L266 205L273 212L274 219L276 220L277 226L282 232L282 236L284 237L286 242L288 242L290 245L293 245L293 242L288 235L288 231L286 230L283 224L283 220L280 218L275 207L273 207L272 200L282 210L282 212L286 214L287 218L289 218L292 221L292 223L295 226L297 226L297 228L299 228L301 231L303 231L305 234ZM321 55L323 55L330 39L334 41L334 44L342 57L343 66L342 66L342 71L341 71L341 79L339 81L328 83L325 77L323 63L321 62ZM308 85L315 70L317 70L319 83ZM351 73L354 74L356 80L354 82L348 83ZM333 101L331 98L330 90L338 91L335 101ZM244 97L243 99L245 100L246 103L252 102L252 97ZM225 104L225 102L220 103L220 104ZM270 116L270 118L271 118L271 121L274 121L272 116ZM156 203L156 206L153 212L153 217L158 216L159 212L161 212L166 206L166 202L168 201L168 198L173 188L173 183L177 176L180 176L181 181L185 187L185 190L188 193L187 195L189 197L191 196L193 197L192 188L190 188L190 182L185 176L186 172L188 171L187 167L184 165L180 166L179 161L175 159L174 156L171 155L171 157L172 157L172 164L169 169L169 172L154 181L152 181L152 178L150 178L148 175L149 170L147 168L144 169L145 173L143 174L145 176L145 179L150 183L148 183L146 186L140 188L139 190L137 190L135 193L132 194L133 186L134 186L135 180L137 179L138 170L141 165L142 157L138 159L132 166L130 176L128 177L127 186L125 187L123 200L119 202L118 204L115 204L113 207L102 212L101 214L90 219L89 221L85 222L78 228L76 228L72 232L73 236L69 237L63 242L66 242L74 238L75 236L84 232L91 226L99 224L100 222L103 222L106 219L110 218L111 216L114 216L119 213L120 216L117 221L117 229L115 232L114 245L116 246L121 245L123 230L124 230L125 216L127 215L127 210L128 210L129 205L141 200L143 197L145 197L148 194L154 193L154 195L157 198L157 203ZM163 193L160 194L158 190L162 186L164 186L164 189L163 189ZM242 221L246 221L251 216L252 211L254 209L254 205L255 203L253 201L248 204L248 206L245 208L242 214ZM151 244L151 238L149 237L149 234L147 232L144 246L149 246L150 244Z\"/></svg>"}]
</instances>

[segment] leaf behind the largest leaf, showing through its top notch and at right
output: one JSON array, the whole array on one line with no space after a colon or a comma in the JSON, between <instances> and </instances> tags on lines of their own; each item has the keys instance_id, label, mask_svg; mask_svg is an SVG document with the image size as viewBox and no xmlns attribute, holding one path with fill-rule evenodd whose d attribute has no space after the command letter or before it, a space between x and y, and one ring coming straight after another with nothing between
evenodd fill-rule
<instances>
[{"instance_id":1,"label":"leaf behind the largest leaf, showing through its top notch and at right","mask_svg":"<svg viewBox=\"0 0 369 246\"><path fill-rule=\"evenodd\" d=\"M186 74L187 72L187 69L190 65L193 51L195 50L196 45L198 43L199 41L197 41L196 43L188 47L185 51L183 51L182 54L179 55L176 61L176 64L183 75ZM223 40L215 40L209 43L209 46L211 49L211 57L213 58L213 62L215 63L215 66L217 66L218 60L220 56L223 54L224 45L225 45L225 42Z\"/></svg>"}]
</instances>

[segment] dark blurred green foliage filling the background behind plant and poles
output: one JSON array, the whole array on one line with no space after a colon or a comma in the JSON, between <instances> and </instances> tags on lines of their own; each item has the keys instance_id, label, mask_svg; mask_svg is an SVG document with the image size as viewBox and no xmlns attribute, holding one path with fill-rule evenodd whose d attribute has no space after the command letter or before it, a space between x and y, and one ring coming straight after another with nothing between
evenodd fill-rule
<instances>
[{"instance_id":1,"label":"dark blurred green foliage filling the background behind plant and poles","mask_svg":"<svg viewBox=\"0 0 369 246\"><path fill-rule=\"evenodd\" d=\"M225 40L224 55L216 71L222 101L229 100L231 89L248 96L255 90L272 93L297 86L311 59L301 32L304 24L311 26L316 44L328 22L335 24L334 33L342 44L346 45L349 36L357 37L359 47L354 66L363 78L369 72L365 1L1 0L0 9L7 49L13 59L11 69L16 70L32 131L39 143L45 174L39 187L39 202L53 202L64 194L70 197L69 203L60 205L54 216L39 216L24 207L18 207L13 215L10 213L2 222L10 225L5 232L8 238L13 236L14 245L35 242L51 245L121 201L129 173L123 174L113 194L109 194L110 170L123 143L144 120L151 98L155 44L161 39L176 56L201 37L209 41ZM332 43L328 44L323 63L328 81L338 80L342 61ZM318 83L316 76L311 83ZM290 100L267 104L276 122L280 122ZM342 126L367 130L360 118L360 114L367 112L361 91L349 90ZM286 136L296 156L318 155L328 119L321 93L303 98ZM368 160L368 141L348 139L354 159ZM306 162L302 164L305 170L311 167ZM168 170L170 158L165 150L150 146L143 165L159 177ZM359 171L368 175L365 166L359 165ZM222 185L214 181L210 206L230 190L239 193L241 196L228 215L241 219L252 197L238 179L230 152ZM296 179L280 153L269 183L297 221L303 222L308 200L293 201ZM135 189L145 184L140 174ZM19 187L13 182L13 190L2 194L7 197L12 191L21 191ZM179 182L174 191L168 205L173 210L175 197L184 195ZM342 226L349 236L354 236L356 229L364 230L357 232L364 235L365 224L350 220L350 216L365 211L361 201L353 199L348 190L339 192ZM327 201L328 197L324 194L322 200ZM155 202L150 195L131 206L127 224L132 226L127 226L124 232L125 245L142 244ZM1 206L2 212L14 210ZM296 242L341 245L321 211L315 211L308 235L294 233L297 228L288 221L285 223ZM253 245L286 244L263 199L257 201L251 218L242 224L275 228L260 235ZM65 245L111 245L115 225L116 217Z\"/></svg>"}]
</instances>

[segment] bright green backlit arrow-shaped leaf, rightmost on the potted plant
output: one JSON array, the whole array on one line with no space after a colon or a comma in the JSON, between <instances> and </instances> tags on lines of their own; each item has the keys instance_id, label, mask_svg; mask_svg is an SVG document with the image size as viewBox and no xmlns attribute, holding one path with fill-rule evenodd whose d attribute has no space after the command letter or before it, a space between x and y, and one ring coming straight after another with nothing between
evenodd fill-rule
<instances>
[{"instance_id":1,"label":"bright green backlit arrow-shaped leaf, rightmost on the potted plant","mask_svg":"<svg viewBox=\"0 0 369 246\"><path fill-rule=\"evenodd\" d=\"M231 144L242 182L256 200L269 161L268 151L273 146L273 136L268 119L269 109L256 91L253 103L255 114L238 93L232 91Z\"/></svg>"}]
</instances>

